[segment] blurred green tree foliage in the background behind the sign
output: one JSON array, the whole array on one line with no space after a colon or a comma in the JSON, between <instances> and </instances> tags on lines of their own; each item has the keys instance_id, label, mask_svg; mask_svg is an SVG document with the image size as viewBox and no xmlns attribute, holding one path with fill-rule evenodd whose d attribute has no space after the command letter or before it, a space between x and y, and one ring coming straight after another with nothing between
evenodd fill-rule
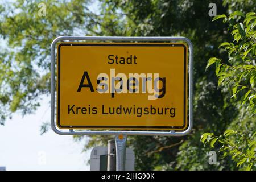
<instances>
[{"instance_id":1,"label":"blurred green tree foliage in the background behind the sign","mask_svg":"<svg viewBox=\"0 0 256 182\"><path fill-rule=\"evenodd\" d=\"M38 15L38 4L46 4L46 16ZM217 135L229 127L244 133L255 129L255 118L238 109L229 89L218 88L215 70L205 66L210 57L228 60L218 46L232 42L226 25L212 22L209 3L216 3L217 14L255 11L253 0L141 0L98 1L97 11L89 9L93 1L18 0L0 3L0 37L7 44L0 51L0 122L20 111L29 114L40 106L40 96L49 94L50 57L53 39L61 35L95 36L186 36L195 48L193 131L185 137L129 137L138 170L232 170L231 157L218 158L209 165L207 152L212 148L200 143L207 131ZM249 126L249 127L246 127ZM46 129L46 127L43 127ZM110 137L89 137L85 150L106 145ZM76 137L75 140L85 140Z\"/></svg>"}]
</instances>

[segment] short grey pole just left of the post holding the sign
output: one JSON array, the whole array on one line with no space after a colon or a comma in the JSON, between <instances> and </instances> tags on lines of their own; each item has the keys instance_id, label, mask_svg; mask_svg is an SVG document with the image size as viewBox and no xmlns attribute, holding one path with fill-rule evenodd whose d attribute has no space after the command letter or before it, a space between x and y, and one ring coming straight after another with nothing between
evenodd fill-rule
<instances>
[{"instance_id":1,"label":"short grey pole just left of the post holding the sign","mask_svg":"<svg viewBox=\"0 0 256 182\"><path fill-rule=\"evenodd\" d=\"M115 140L108 140L108 171L115 171L116 168L116 152Z\"/></svg>"}]
</instances>

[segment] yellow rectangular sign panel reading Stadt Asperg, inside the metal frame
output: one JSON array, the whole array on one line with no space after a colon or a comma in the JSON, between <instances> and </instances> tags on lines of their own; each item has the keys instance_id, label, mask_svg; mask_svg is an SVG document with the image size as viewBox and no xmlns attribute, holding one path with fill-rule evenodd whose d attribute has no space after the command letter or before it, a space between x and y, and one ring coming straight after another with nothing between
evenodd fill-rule
<instances>
[{"instance_id":1,"label":"yellow rectangular sign panel reading Stadt Asperg, inside the metal frame","mask_svg":"<svg viewBox=\"0 0 256 182\"><path fill-rule=\"evenodd\" d=\"M60 129L185 130L183 43L57 45Z\"/></svg>"}]
</instances>

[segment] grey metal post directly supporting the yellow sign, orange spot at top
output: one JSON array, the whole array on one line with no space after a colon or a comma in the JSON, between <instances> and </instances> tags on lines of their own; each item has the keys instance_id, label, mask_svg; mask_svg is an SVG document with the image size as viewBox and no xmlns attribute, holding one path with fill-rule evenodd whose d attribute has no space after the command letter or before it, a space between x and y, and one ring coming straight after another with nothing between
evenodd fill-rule
<instances>
[{"instance_id":1,"label":"grey metal post directly supporting the yellow sign, orange spot at top","mask_svg":"<svg viewBox=\"0 0 256 182\"><path fill-rule=\"evenodd\" d=\"M117 171L125 171L127 135L115 135L115 148L117 150Z\"/></svg>"}]
</instances>

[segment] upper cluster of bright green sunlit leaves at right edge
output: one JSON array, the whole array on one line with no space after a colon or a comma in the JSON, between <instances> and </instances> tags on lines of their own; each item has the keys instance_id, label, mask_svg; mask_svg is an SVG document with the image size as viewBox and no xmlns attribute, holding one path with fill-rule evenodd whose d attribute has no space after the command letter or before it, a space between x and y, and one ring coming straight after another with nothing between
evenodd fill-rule
<instances>
[{"instance_id":1,"label":"upper cluster of bright green sunlit leaves at right edge","mask_svg":"<svg viewBox=\"0 0 256 182\"><path fill-rule=\"evenodd\" d=\"M235 17L244 19L236 22ZM241 11L235 11L226 15L218 15L213 20L224 18L228 23L228 30L233 36L232 42L224 42L219 48L228 52L228 60L217 57L208 60L206 69L215 64L215 72L218 77L218 85L224 88L232 88L232 96L240 103L240 107L246 105L251 115L256 114L256 16L254 12L244 15Z\"/></svg>"}]
</instances>

